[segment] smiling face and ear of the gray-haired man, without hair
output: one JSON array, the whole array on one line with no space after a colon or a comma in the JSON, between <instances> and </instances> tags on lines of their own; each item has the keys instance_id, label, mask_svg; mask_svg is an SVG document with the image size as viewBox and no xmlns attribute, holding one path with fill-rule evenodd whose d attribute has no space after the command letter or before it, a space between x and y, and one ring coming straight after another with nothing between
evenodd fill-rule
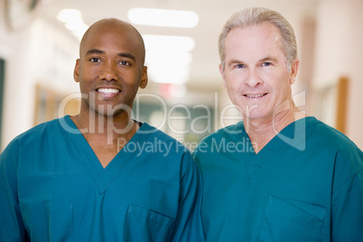
<instances>
[{"instance_id":1,"label":"smiling face and ear of the gray-haired man, without hair","mask_svg":"<svg viewBox=\"0 0 363 242\"><path fill-rule=\"evenodd\" d=\"M281 34L271 23L232 29L225 42L225 66L219 66L228 96L249 119L272 121L275 110L292 99L299 61L289 72Z\"/></svg>"}]
</instances>

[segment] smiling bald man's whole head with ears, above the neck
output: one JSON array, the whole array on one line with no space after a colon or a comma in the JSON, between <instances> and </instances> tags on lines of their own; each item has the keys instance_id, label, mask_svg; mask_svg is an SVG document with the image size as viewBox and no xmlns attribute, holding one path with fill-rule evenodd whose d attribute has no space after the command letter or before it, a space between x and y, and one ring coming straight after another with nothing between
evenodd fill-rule
<instances>
[{"instance_id":1,"label":"smiling bald man's whole head with ears, above the neck","mask_svg":"<svg viewBox=\"0 0 363 242\"><path fill-rule=\"evenodd\" d=\"M117 116L131 108L138 88L147 84L144 43L135 29L116 19L95 23L79 54L74 79L84 97L81 113Z\"/></svg>"}]
</instances>

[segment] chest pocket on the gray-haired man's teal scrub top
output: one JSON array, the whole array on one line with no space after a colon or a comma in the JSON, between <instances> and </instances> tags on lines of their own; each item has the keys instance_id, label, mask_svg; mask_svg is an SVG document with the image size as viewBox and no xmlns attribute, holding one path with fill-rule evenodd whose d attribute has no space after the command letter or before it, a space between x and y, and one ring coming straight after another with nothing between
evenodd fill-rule
<instances>
[{"instance_id":1,"label":"chest pocket on the gray-haired man's teal scrub top","mask_svg":"<svg viewBox=\"0 0 363 242\"><path fill-rule=\"evenodd\" d=\"M271 196L258 241L319 241L325 212L311 203Z\"/></svg>"}]
</instances>

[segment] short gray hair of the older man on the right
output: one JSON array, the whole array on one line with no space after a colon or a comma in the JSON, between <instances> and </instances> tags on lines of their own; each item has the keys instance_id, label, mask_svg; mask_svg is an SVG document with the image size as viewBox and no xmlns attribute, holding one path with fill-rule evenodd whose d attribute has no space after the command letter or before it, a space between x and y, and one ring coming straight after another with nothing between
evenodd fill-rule
<instances>
[{"instance_id":1,"label":"short gray hair of the older man on the right","mask_svg":"<svg viewBox=\"0 0 363 242\"><path fill-rule=\"evenodd\" d=\"M286 64L290 71L291 63L297 59L297 44L293 27L282 14L264 7L249 7L232 14L219 34L219 59L224 70L226 37L234 28L246 28L259 23L272 23L280 31Z\"/></svg>"}]
</instances>

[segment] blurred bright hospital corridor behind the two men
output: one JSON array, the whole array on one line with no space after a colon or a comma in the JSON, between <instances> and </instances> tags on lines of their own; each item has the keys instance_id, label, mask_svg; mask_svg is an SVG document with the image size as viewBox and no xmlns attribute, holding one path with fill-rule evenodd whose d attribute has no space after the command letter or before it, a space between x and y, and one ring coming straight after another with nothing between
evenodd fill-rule
<instances>
[{"instance_id":1,"label":"blurred bright hospital corridor behind the two men","mask_svg":"<svg viewBox=\"0 0 363 242\"><path fill-rule=\"evenodd\" d=\"M240 120L219 75L218 36L247 6L276 10L293 25L301 61L295 102L362 149L361 0L0 0L0 150L32 126L78 113L79 40L105 17L144 37L149 84L135 98L134 118L192 150Z\"/></svg>"}]
</instances>

